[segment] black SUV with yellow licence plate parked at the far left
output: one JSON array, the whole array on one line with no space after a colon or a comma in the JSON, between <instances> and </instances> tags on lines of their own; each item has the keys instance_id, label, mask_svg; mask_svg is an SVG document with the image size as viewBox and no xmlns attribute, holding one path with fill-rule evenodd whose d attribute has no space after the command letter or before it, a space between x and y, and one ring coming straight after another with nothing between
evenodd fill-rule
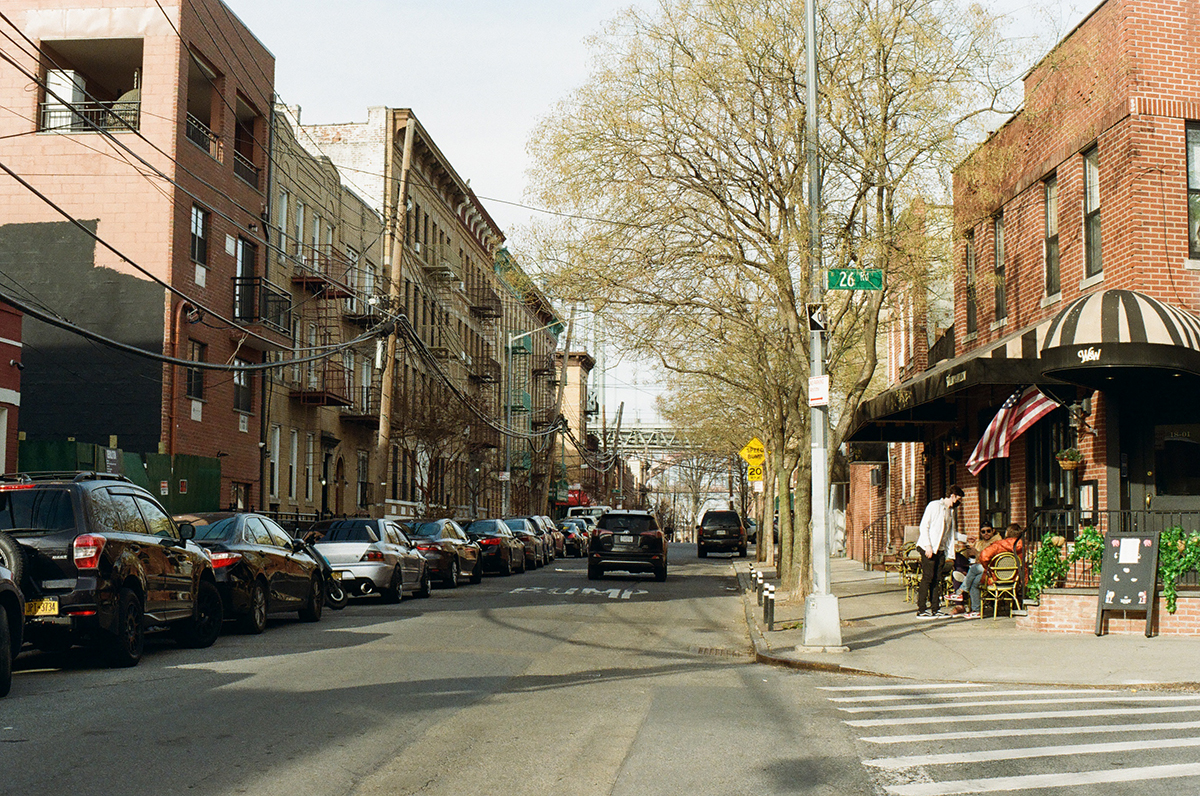
<instances>
[{"instance_id":1,"label":"black SUV with yellow licence plate parked at the far left","mask_svg":"<svg viewBox=\"0 0 1200 796\"><path fill-rule=\"evenodd\" d=\"M170 627L187 647L221 633L221 593L208 555L146 490L121 475L0 477L0 537L20 555L25 636L42 650L98 646L136 666L146 628Z\"/></svg>"}]
</instances>

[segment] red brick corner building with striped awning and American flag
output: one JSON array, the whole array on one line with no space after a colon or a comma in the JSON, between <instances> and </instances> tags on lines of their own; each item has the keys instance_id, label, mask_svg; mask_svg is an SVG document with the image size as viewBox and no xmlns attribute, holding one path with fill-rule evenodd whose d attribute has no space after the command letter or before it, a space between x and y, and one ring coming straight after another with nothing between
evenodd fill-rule
<instances>
[{"instance_id":1,"label":"red brick corner building with striped awning and American flag","mask_svg":"<svg viewBox=\"0 0 1200 796\"><path fill-rule=\"evenodd\" d=\"M1034 539L1135 514L1194 526L1196 41L1190 0L1102 2L1026 76L1022 110L958 168L953 327L860 407L852 441L914 447L904 463L899 445L887 454L876 489L889 495L857 502L908 499L902 469L918 509L961 485L966 526L1019 522ZM972 475L965 462L985 427L1027 385L1061 408ZM1076 471L1056 461L1070 447Z\"/></svg>"}]
</instances>

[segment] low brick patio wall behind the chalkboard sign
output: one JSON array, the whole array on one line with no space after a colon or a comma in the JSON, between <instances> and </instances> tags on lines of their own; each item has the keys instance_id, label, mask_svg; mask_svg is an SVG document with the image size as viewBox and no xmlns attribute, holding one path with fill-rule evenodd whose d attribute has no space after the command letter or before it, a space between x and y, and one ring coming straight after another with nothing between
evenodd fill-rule
<instances>
[{"instance_id":1,"label":"low brick patio wall behind the chalkboard sign","mask_svg":"<svg viewBox=\"0 0 1200 796\"><path fill-rule=\"evenodd\" d=\"M1042 633L1094 633L1094 589L1046 589L1038 604L1028 605L1028 616L1016 617L1016 627ZM1114 635L1142 635L1146 615L1141 611L1106 611L1103 629ZM1166 612L1162 597L1151 626L1154 635L1200 635L1200 594L1180 594L1175 614Z\"/></svg>"}]
</instances>

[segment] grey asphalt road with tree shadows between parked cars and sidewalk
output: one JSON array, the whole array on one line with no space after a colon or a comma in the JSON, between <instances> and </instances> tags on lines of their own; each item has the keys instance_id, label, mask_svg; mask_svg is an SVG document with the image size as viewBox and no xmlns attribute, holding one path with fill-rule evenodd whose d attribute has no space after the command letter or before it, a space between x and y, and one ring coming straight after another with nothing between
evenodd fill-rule
<instances>
[{"instance_id":1,"label":"grey asphalt road with tree shadows between parked cars and sidewalk","mask_svg":"<svg viewBox=\"0 0 1200 796\"><path fill-rule=\"evenodd\" d=\"M132 670L25 653L0 700L0 792L869 794L857 730L751 663L730 561L665 583L559 559L319 624L275 618Z\"/></svg>"}]
</instances>

